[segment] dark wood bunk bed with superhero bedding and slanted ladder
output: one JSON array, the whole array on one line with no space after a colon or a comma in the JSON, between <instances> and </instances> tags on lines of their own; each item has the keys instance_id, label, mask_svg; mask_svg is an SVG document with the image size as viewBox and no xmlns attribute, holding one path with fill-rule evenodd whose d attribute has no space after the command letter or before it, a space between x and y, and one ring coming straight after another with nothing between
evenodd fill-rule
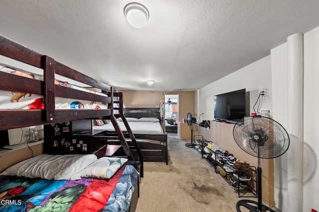
<instances>
[{"instance_id":1,"label":"dark wood bunk bed with superhero bedding and slanted ladder","mask_svg":"<svg viewBox=\"0 0 319 212\"><path fill-rule=\"evenodd\" d=\"M63 208L63 211L85 211L85 207L89 207L90 211L135 211L139 181L143 177L143 155L133 133L130 135L130 147L128 138L124 137L116 121L113 88L3 36L0 36L0 55L36 67L43 73L39 80L27 70L2 66L0 91L14 95L10 102L20 103L27 97L35 100L21 108L16 107L17 104L13 104L14 107L0 107L0 130L44 125L44 154L21 161L1 173L4 179L0 181L0 210L41 211L42 207L48 209L52 202L56 204L56 198L61 195L77 194L69 201L73 205ZM58 76L99 89L101 93L57 80ZM67 106L58 105L59 98L72 99L73 102L66 103ZM91 107L87 108L83 102L89 102ZM95 136L103 130L86 127L91 119L101 118L110 120L114 125L123 155L115 157L119 148L112 148L107 139L96 139ZM52 133L58 137L50 139ZM114 150L111 157L94 154L101 147L108 146ZM138 157L133 156L131 148ZM33 167L35 164L40 167ZM57 164L63 168L57 167ZM104 170L102 174L96 172L101 171L101 166ZM33 167L32 175L27 172L30 167ZM70 172L75 168L74 172ZM47 177L46 174L53 169L56 173ZM34 173L34 170L39 173ZM126 185L125 188L123 185ZM71 187L77 190L71 191ZM122 203L120 200L126 201ZM66 204L63 205L65 207Z\"/></svg>"}]
</instances>

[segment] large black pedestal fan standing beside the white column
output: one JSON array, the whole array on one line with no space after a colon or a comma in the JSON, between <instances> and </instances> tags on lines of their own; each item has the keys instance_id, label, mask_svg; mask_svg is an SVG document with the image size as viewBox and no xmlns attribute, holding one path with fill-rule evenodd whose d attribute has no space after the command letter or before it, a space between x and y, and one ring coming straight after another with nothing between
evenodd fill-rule
<instances>
[{"instance_id":1,"label":"large black pedestal fan standing beside the white column","mask_svg":"<svg viewBox=\"0 0 319 212\"><path fill-rule=\"evenodd\" d=\"M244 207L250 212L274 212L262 204L262 169L260 158L276 158L283 155L289 147L289 135L285 128L275 120L264 116L248 116L240 119L233 129L237 145L248 154L258 158L257 196L258 203L240 200L236 204L237 212Z\"/></svg>"}]
</instances>

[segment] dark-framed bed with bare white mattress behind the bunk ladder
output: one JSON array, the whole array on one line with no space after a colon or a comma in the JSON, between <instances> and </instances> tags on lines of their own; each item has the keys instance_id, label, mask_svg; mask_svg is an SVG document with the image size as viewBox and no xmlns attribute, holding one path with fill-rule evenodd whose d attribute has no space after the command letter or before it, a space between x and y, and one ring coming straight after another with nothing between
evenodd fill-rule
<instances>
[{"instance_id":1,"label":"dark-framed bed with bare white mattress behind the bunk ladder","mask_svg":"<svg viewBox=\"0 0 319 212\"><path fill-rule=\"evenodd\" d=\"M168 164L167 134L163 132L159 108L133 108L123 106L123 94L114 93L114 111L118 124L127 138L135 137L143 154L143 160L148 162L165 162ZM95 130L102 130L102 138L108 137L109 143L114 143L112 135L114 126L103 123L93 126ZM131 141L128 141L132 146ZM134 156L138 156L132 150Z\"/></svg>"}]
</instances>

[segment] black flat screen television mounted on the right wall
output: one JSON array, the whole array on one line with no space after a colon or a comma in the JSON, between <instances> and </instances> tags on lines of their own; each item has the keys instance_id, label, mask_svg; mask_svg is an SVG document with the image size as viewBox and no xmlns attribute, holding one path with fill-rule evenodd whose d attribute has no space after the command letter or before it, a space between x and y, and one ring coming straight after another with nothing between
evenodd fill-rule
<instances>
[{"instance_id":1,"label":"black flat screen television mounted on the right wall","mask_svg":"<svg viewBox=\"0 0 319 212\"><path fill-rule=\"evenodd\" d=\"M246 89L214 96L214 118L236 123L249 115L249 95Z\"/></svg>"}]
</instances>

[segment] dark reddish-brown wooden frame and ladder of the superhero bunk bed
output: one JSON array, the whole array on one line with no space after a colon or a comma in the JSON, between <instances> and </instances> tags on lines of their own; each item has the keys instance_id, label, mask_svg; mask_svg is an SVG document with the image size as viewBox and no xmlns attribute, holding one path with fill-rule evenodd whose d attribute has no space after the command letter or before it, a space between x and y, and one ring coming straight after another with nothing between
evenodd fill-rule
<instances>
[{"instance_id":1,"label":"dark reddish-brown wooden frame and ladder of the superhero bunk bed","mask_svg":"<svg viewBox=\"0 0 319 212\"><path fill-rule=\"evenodd\" d=\"M143 155L134 134L128 126L128 131L131 131L131 133L129 133L129 137L131 138L130 142L133 144L129 146L127 139L117 124L113 109L114 93L112 87L81 74L80 72L55 61L53 58L41 55L3 36L0 36L0 55L40 68L43 70L44 75L43 81L39 81L0 72L0 90L21 92L25 94L38 94L43 95L44 97L44 109L0 109L0 130L42 124L46 127L52 123L76 120L81 122L81 120L86 119L91 121L91 119L98 119L101 117L110 119L116 130L121 148L128 158L128 164L133 165L140 172L140 177L143 177ZM98 88L102 90L103 93L107 94L108 97L55 85L55 74ZM55 97L102 102L108 104L108 109L55 109ZM123 118L125 119L125 117ZM102 142L107 142L107 140L103 141L101 138L95 139L97 133L99 132L93 130L77 132L77 134L92 138L90 141L97 142L97 144L92 145L93 149L91 153L93 153L94 147L101 147L103 146ZM74 135L72 134L71 136ZM44 153L50 154L50 149L46 148L47 140L50 140L48 138L48 130L44 130ZM134 152L136 152L138 156L133 156L130 147L134 148ZM117 148L115 148L115 150L116 149ZM86 154L87 153L88 152L86 152ZM135 211L136 209L139 197L139 182L140 180L136 183L129 211Z\"/></svg>"}]
</instances>

